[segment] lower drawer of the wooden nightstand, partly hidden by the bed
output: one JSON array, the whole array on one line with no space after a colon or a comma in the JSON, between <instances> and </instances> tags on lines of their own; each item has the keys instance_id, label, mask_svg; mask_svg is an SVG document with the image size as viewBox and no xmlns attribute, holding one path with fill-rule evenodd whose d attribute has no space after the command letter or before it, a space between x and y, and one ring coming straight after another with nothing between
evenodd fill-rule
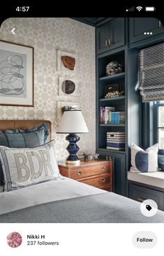
<instances>
[{"instance_id":1,"label":"lower drawer of the wooden nightstand, partly hidden by the bed","mask_svg":"<svg viewBox=\"0 0 164 256\"><path fill-rule=\"evenodd\" d=\"M89 179L78 180L82 183L112 191L112 175L103 174Z\"/></svg>"}]
</instances>

